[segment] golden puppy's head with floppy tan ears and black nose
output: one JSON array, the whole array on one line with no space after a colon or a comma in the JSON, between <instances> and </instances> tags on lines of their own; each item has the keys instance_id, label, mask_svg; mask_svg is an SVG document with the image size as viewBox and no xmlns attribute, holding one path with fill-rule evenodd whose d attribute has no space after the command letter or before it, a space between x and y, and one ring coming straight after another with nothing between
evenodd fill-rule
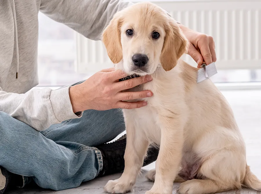
<instances>
[{"instance_id":1,"label":"golden puppy's head with floppy tan ears and black nose","mask_svg":"<svg viewBox=\"0 0 261 194\"><path fill-rule=\"evenodd\" d=\"M169 71L186 52L177 23L152 3L136 3L117 12L103 33L113 63L123 60L129 74L152 74L161 63Z\"/></svg>"}]
</instances>

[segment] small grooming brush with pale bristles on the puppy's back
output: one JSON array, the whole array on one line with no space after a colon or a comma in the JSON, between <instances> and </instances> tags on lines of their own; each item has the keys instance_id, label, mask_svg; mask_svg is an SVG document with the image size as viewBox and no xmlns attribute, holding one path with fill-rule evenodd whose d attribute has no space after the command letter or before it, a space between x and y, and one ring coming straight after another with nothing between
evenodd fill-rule
<instances>
[{"instance_id":1,"label":"small grooming brush with pale bristles on the puppy's back","mask_svg":"<svg viewBox=\"0 0 261 194\"><path fill-rule=\"evenodd\" d=\"M203 63L201 69L197 70L197 83L200 83L206 79L209 79L211 76L218 73L215 63L210 63L206 65Z\"/></svg>"}]
</instances>

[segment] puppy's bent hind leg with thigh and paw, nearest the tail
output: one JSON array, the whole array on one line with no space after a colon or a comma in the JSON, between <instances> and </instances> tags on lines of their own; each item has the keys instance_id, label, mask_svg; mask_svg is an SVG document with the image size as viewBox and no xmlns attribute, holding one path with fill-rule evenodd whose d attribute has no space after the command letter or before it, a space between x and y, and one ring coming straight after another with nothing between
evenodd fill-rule
<instances>
[{"instance_id":1,"label":"puppy's bent hind leg with thigh and paw, nearest the tail","mask_svg":"<svg viewBox=\"0 0 261 194\"><path fill-rule=\"evenodd\" d=\"M204 161L199 170L203 180L192 179L180 184L179 194L208 194L241 188L245 175L242 153L223 150Z\"/></svg>"}]
</instances>

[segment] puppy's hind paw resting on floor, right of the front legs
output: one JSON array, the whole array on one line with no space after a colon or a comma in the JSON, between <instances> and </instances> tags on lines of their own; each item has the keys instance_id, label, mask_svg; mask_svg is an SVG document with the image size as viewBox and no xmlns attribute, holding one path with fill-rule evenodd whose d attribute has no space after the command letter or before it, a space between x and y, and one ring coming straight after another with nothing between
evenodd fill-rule
<instances>
[{"instance_id":1,"label":"puppy's hind paw resting on floor, right of the front legs","mask_svg":"<svg viewBox=\"0 0 261 194\"><path fill-rule=\"evenodd\" d=\"M178 194L201 194L199 190L199 183L196 181L186 181L180 184L177 190Z\"/></svg>"}]
</instances>

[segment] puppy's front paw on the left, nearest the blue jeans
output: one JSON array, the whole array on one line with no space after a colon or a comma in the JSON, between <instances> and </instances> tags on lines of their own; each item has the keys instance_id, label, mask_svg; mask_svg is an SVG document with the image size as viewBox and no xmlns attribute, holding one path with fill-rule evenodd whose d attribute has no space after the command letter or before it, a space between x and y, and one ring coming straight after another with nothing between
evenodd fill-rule
<instances>
[{"instance_id":1,"label":"puppy's front paw on the left, nearest the blue jeans","mask_svg":"<svg viewBox=\"0 0 261 194\"><path fill-rule=\"evenodd\" d=\"M107 193L128 193L133 191L133 183L121 182L117 180L109 180L104 187Z\"/></svg>"}]
</instances>

